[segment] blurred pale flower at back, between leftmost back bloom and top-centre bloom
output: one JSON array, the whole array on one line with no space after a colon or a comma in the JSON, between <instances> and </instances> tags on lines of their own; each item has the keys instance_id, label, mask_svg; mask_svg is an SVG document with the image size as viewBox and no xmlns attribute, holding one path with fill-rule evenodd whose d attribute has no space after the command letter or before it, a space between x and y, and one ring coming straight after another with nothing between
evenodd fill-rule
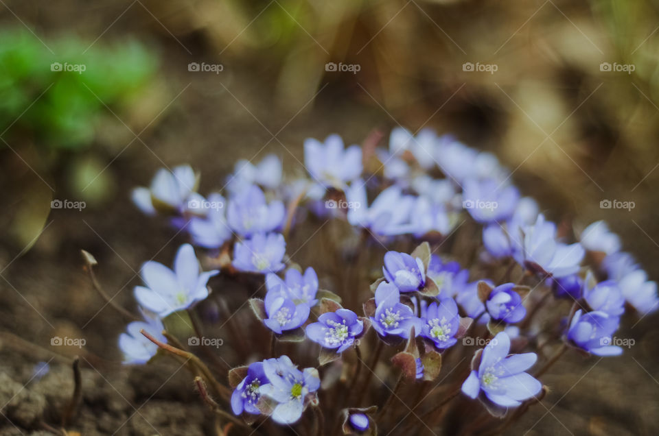
<instances>
[{"instance_id":1,"label":"blurred pale flower at back, between leftmost back bloom and top-centre bloom","mask_svg":"<svg viewBox=\"0 0 659 436\"><path fill-rule=\"evenodd\" d=\"M231 193L239 193L252 184L277 189L281 184L281 172L281 160L275 154L268 154L257 165L248 160L238 160L233 174L229 176L227 189Z\"/></svg>"}]
</instances>

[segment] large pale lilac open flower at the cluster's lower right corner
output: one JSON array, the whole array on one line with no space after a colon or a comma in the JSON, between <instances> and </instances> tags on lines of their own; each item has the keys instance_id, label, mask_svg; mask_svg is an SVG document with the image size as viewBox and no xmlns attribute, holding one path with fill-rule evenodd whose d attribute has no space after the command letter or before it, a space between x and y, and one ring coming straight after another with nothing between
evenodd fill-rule
<instances>
[{"instance_id":1,"label":"large pale lilac open flower at the cluster's lower right corner","mask_svg":"<svg viewBox=\"0 0 659 436\"><path fill-rule=\"evenodd\" d=\"M478 370L474 369L463 383L463 393L470 398L479 397L486 406L494 404L495 409L518 407L522 401L537 395L542 383L524 372L533 366L537 356L535 353L509 355L509 352L510 338L500 332L483 349L480 362L479 352L474 356L472 369L478 365Z\"/></svg>"}]
</instances>

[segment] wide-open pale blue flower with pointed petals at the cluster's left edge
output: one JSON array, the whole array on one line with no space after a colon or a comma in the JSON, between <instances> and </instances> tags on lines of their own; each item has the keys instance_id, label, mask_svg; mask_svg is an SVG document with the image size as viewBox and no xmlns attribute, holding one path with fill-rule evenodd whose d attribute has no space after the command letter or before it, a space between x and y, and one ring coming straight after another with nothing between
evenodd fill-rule
<instances>
[{"instance_id":1,"label":"wide-open pale blue flower with pointed petals at the cluster's left edge","mask_svg":"<svg viewBox=\"0 0 659 436\"><path fill-rule=\"evenodd\" d=\"M204 300L208 296L208 279L218 272L213 269L200 273L192 245L183 244L176 253L174 270L154 261L142 265L146 287L135 287L135 298L144 308L165 317Z\"/></svg>"}]
</instances>

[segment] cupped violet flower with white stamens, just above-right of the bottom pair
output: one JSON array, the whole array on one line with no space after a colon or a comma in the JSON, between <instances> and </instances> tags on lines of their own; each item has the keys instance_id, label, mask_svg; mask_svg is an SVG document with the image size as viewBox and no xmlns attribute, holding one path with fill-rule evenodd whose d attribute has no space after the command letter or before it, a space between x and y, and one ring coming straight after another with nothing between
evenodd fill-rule
<instances>
[{"instance_id":1,"label":"cupped violet flower with white stamens, just above-right of the bottom pair","mask_svg":"<svg viewBox=\"0 0 659 436\"><path fill-rule=\"evenodd\" d=\"M318 322L309 324L307 336L325 348L336 348L340 353L351 347L354 338L364 330L364 323L356 313L348 309L338 309L318 317Z\"/></svg>"}]
</instances>

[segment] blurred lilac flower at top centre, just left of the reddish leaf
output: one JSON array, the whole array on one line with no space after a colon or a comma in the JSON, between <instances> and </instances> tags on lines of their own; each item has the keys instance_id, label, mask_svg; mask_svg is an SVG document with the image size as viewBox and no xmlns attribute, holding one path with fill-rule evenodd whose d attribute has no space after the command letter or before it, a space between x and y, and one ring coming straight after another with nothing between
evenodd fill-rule
<instances>
[{"instance_id":1,"label":"blurred lilac flower at top centre, just left of the reddish leaf","mask_svg":"<svg viewBox=\"0 0 659 436\"><path fill-rule=\"evenodd\" d=\"M320 184L343 189L346 182L362 173L362 149L351 145L344 150L337 134L327 136L325 143L308 138L304 141L304 165Z\"/></svg>"}]
</instances>

